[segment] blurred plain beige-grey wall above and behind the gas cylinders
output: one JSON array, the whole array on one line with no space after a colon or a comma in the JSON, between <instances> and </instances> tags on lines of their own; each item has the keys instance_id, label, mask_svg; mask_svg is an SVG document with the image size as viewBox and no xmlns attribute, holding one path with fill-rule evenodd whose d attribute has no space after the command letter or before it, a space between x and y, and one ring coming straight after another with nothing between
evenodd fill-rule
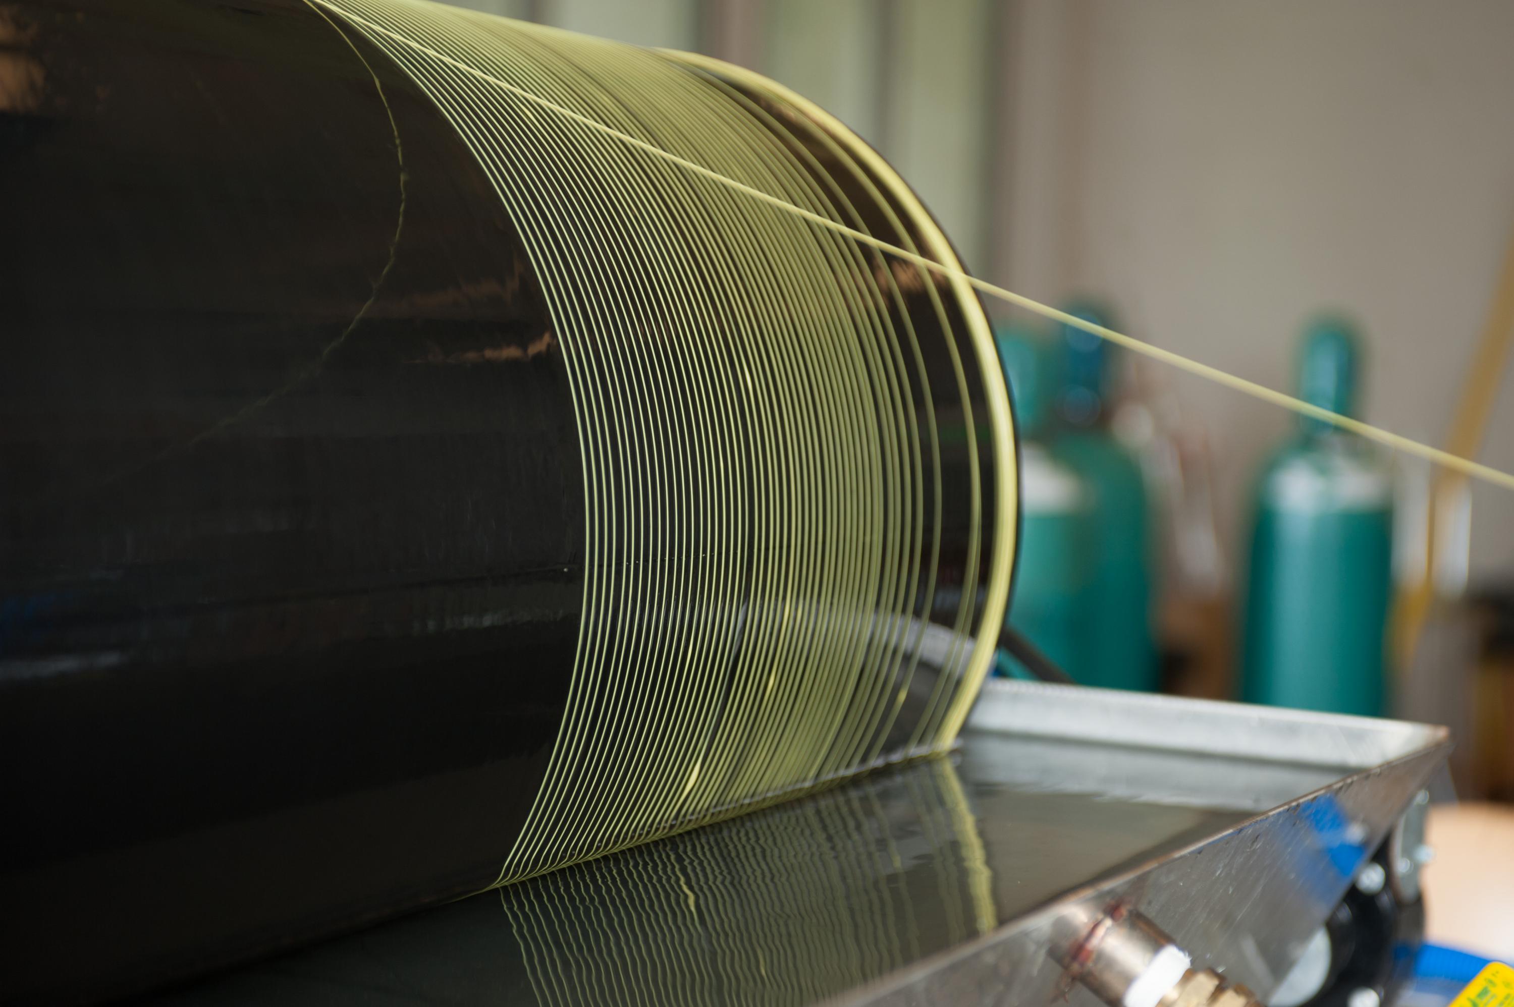
<instances>
[{"instance_id":1,"label":"blurred plain beige-grey wall above and behind the gas cylinders","mask_svg":"<svg viewBox=\"0 0 1514 1007\"><path fill-rule=\"evenodd\" d=\"M1366 326L1366 418L1449 432L1514 226L1514 5L1022 0L1007 58L1002 277L1107 292L1132 335L1291 385L1299 323ZM1220 445L1231 542L1278 410L1173 377ZM1514 380L1481 460L1514 468ZM1514 565L1514 494L1478 486L1473 572Z\"/></svg>"}]
</instances>

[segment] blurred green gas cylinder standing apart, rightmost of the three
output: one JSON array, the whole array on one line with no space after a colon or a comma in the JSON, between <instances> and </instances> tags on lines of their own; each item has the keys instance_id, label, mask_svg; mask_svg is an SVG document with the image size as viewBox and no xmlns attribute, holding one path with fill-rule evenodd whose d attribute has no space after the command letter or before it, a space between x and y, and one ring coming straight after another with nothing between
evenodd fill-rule
<instances>
[{"instance_id":1,"label":"blurred green gas cylinder standing apart, rightmost of the three","mask_svg":"<svg viewBox=\"0 0 1514 1007\"><path fill-rule=\"evenodd\" d=\"M1316 320L1299 353L1299 397L1352 415L1360 336ZM1319 419L1267 462L1257 486L1243 615L1245 698L1381 715L1393 545L1391 469Z\"/></svg>"}]
</instances>

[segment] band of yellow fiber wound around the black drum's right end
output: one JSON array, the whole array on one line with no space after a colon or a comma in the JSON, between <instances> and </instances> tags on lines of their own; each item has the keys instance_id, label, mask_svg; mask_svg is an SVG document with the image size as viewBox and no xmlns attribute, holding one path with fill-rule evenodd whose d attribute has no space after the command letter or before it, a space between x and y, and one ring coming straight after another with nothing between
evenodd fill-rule
<instances>
[{"instance_id":1,"label":"band of yellow fiber wound around the black drum's right end","mask_svg":"<svg viewBox=\"0 0 1514 1007\"><path fill-rule=\"evenodd\" d=\"M995 457L1010 436L975 300L519 92L949 254L907 189L754 74L433 5L322 6L478 157L540 263L574 389L586 610L547 780L501 878L948 745L986 674L995 634L980 628L1002 619L1013 548L1013 515L981 504L986 472L1013 463ZM922 338L949 362L946 388ZM966 448L969 492L949 501L937 397ZM949 509L966 542L955 603L939 604ZM945 613L951 638L910 704L916 612ZM646 783L625 787L627 772Z\"/></svg>"}]
</instances>

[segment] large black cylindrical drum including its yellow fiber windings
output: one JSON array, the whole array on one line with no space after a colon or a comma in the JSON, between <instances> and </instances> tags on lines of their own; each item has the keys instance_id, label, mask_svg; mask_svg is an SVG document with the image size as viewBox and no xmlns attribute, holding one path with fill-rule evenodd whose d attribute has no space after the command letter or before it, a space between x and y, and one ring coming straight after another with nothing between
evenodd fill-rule
<instances>
[{"instance_id":1,"label":"large black cylindrical drum including its yellow fiber windings","mask_svg":"<svg viewBox=\"0 0 1514 1007\"><path fill-rule=\"evenodd\" d=\"M0 194L0 998L955 736L1008 401L798 95L407 0L21 2Z\"/></svg>"}]
</instances>

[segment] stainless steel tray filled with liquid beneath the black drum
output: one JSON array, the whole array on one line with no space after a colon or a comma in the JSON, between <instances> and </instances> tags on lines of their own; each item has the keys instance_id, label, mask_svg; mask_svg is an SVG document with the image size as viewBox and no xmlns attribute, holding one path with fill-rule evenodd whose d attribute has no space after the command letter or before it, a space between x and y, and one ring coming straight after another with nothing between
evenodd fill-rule
<instances>
[{"instance_id":1,"label":"stainless steel tray filled with liquid beneath the black drum","mask_svg":"<svg viewBox=\"0 0 1514 1007\"><path fill-rule=\"evenodd\" d=\"M951 759L168 999L1040 1007L1058 921L1114 899L1266 995L1447 748L1417 724L992 681Z\"/></svg>"}]
</instances>

